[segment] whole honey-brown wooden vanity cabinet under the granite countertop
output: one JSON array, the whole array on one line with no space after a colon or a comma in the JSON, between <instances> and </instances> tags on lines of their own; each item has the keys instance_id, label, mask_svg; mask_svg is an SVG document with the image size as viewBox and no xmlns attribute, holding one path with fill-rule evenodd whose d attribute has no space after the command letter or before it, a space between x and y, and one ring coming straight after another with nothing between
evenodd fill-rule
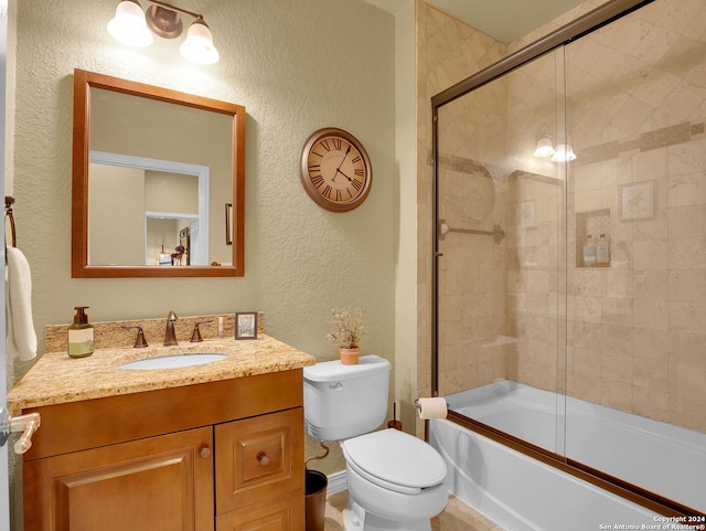
<instances>
[{"instance_id":1,"label":"whole honey-brown wooden vanity cabinet under the granite countertop","mask_svg":"<svg viewBox=\"0 0 706 531\"><path fill-rule=\"evenodd\" d=\"M303 531L301 370L26 410L25 531Z\"/></svg>"}]
</instances>

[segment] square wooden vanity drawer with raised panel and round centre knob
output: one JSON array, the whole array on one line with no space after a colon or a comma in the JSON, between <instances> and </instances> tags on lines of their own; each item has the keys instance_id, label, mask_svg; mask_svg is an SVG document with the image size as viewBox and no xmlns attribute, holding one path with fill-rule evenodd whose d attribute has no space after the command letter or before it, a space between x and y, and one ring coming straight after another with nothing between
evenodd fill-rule
<instances>
[{"instance_id":1,"label":"square wooden vanity drawer with raised panel and round centre knob","mask_svg":"<svg viewBox=\"0 0 706 531\"><path fill-rule=\"evenodd\" d=\"M216 514L303 485L303 410L215 426Z\"/></svg>"}]
</instances>

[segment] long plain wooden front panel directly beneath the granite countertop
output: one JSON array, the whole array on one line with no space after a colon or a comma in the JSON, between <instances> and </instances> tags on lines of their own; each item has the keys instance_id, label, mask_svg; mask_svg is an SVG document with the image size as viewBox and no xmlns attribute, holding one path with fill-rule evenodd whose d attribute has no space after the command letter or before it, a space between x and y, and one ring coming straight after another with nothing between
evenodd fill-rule
<instances>
[{"instance_id":1,"label":"long plain wooden front panel directly beneath the granite countertop","mask_svg":"<svg viewBox=\"0 0 706 531\"><path fill-rule=\"evenodd\" d=\"M297 369L24 410L42 415L24 460L300 407L301 374Z\"/></svg>"}]
</instances>

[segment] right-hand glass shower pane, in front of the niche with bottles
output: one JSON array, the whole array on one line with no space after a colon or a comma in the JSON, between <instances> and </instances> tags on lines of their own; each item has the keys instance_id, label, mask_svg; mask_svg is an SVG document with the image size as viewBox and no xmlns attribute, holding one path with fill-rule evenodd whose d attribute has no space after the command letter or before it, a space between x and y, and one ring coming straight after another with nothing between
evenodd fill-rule
<instances>
[{"instance_id":1,"label":"right-hand glass shower pane, in front of the niche with bottles","mask_svg":"<svg viewBox=\"0 0 706 531\"><path fill-rule=\"evenodd\" d=\"M706 512L706 9L659 0L566 55L566 455Z\"/></svg>"}]
</instances>

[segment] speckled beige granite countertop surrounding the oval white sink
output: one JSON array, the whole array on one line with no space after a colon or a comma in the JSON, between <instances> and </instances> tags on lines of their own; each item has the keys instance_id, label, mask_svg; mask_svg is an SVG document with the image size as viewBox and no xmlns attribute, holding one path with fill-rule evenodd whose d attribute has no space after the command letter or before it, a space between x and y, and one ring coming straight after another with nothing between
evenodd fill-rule
<instances>
[{"instance_id":1,"label":"speckled beige granite countertop surrounding the oval white sink","mask_svg":"<svg viewBox=\"0 0 706 531\"><path fill-rule=\"evenodd\" d=\"M229 355L214 363L181 369L117 369L130 361L189 352ZM78 359L69 358L65 351L47 352L8 392L8 408L15 415L30 407L288 371L315 363L312 355L266 334L248 340L204 339L173 347L105 348Z\"/></svg>"}]
</instances>

